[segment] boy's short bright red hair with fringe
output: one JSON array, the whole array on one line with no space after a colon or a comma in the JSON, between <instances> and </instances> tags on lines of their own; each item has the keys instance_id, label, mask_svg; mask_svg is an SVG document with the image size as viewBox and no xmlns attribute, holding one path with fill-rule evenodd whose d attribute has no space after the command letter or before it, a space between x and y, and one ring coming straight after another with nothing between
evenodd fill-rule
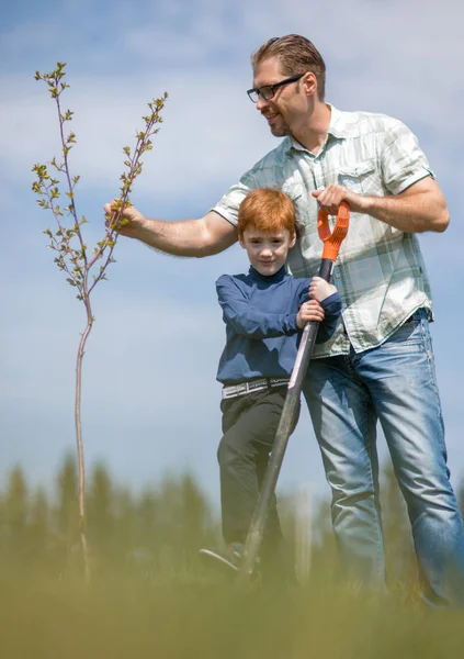
<instances>
[{"instance_id":1,"label":"boy's short bright red hair with fringe","mask_svg":"<svg viewBox=\"0 0 464 659\"><path fill-rule=\"evenodd\" d=\"M244 232L256 228L263 232L279 232L286 228L291 237L296 234L296 213L293 201L282 190L257 188L247 194L238 209L238 237Z\"/></svg>"}]
</instances>

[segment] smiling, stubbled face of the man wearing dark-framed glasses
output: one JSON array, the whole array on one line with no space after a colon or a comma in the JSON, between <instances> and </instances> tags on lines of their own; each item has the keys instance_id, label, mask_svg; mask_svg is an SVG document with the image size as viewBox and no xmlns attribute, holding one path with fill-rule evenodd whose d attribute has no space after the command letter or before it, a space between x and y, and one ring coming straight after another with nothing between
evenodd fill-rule
<instances>
[{"instance_id":1,"label":"smiling, stubbled face of the man wearing dark-framed glasses","mask_svg":"<svg viewBox=\"0 0 464 659\"><path fill-rule=\"evenodd\" d=\"M265 85L275 85L275 82L288 77L288 75L281 71L276 58L264 59L254 69L253 88L259 89ZM267 119L271 133L275 137L294 133L303 119L307 116L307 100L302 91L302 81L279 87L269 101L260 96L257 109Z\"/></svg>"}]
</instances>

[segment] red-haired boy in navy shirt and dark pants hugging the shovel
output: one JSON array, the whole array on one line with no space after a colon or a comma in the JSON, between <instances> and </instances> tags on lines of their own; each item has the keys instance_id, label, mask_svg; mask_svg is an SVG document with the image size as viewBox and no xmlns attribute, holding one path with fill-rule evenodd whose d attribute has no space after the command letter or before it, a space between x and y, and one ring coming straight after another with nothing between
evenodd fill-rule
<instances>
[{"instance_id":1,"label":"red-haired boy in navy shirt and dark pants hugging the shovel","mask_svg":"<svg viewBox=\"0 0 464 659\"><path fill-rule=\"evenodd\" d=\"M308 321L318 321L317 343L324 343L341 315L333 286L319 277L295 279L285 272L296 224L295 208L284 192L271 188L249 192L240 204L237 228L249 272L223 275L216 282L226 323L226 347L217 371L224 386L224 436L217 457L227 549L201 550L205 562L215 561L228 571L239 568L295 362L298 332ZM279 571L281 540L274 498L262 543L262 571Z\"/></svg>"}]
</instances>

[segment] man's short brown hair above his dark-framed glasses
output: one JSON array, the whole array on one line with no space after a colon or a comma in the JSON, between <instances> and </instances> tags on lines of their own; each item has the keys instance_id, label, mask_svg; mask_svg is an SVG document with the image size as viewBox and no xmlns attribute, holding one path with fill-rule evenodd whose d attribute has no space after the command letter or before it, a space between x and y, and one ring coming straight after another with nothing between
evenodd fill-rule
<instances>
[{"instance_id":1,"label":"man's short brown hair above his dark-framed glasses","mask_svg":"<svg viewBox=\"0 0 464 659\"><path fill-rule=\"evenodd\" d=\"M326 65L316 46L305 36L287 34L270 38L251 56L253 70L264 62L275 57L284 76L296 76L310 71L316 76L319 101L326 93Z\"/></svg>"}]
</instances>

